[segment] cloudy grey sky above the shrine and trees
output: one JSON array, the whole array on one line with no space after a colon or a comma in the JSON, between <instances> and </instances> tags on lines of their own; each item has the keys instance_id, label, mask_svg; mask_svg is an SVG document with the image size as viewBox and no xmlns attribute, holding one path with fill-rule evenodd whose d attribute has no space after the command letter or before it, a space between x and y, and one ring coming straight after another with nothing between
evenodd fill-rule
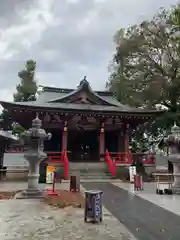
<instances>
[{"instance_id":1,"label":"cloudy grey sky above the shrine and trees","mask_svg":"<svg viewBox=\"0 0 180 240\"><path fill-rule=\"evenodd\" d=\"M12 100L17 73L37 61L39 84L76 87L84 75L104 89L121 27L177 0L1 0L0 99Z\"/></svg>"}]
</instances>

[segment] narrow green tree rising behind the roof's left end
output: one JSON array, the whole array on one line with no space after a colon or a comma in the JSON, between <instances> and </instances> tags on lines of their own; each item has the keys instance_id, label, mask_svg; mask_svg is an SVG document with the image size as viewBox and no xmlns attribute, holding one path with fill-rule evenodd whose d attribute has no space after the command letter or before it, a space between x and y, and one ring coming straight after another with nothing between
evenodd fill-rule
<instances>
[{"instance_id":1,"label":"narrow green tree rising behind the roof's left end","mask_svg":"<svg viewBox=\"0 0 180 240\"><path fill-rule=\"evenodd\" d=\"M36 62L28 60L25 68L18 73L21 83L16 86L15 102L36 100L37 84L35 81Z\"/></svg>"}]
</instances>

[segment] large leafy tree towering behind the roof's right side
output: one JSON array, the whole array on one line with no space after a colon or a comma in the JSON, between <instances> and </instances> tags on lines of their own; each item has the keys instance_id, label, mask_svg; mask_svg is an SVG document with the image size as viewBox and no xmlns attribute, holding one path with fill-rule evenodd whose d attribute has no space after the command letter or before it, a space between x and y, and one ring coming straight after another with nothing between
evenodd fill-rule
<instances>
[{"instance_id":1,"label":"large leafy tree towering behind the roof's right side","mask_svg":"<svg viewBox=\"0 0 180 240\"><path fill-rule=\"evenodd\" d=\"M135 107L167 109L154 126L180 121L179 5L161 9L150 21L120 29L107 87L118 100ZM176 16L176 17L175 17ZM152 126L152 125L151 125Z\"/></svg>"}]
</instances>

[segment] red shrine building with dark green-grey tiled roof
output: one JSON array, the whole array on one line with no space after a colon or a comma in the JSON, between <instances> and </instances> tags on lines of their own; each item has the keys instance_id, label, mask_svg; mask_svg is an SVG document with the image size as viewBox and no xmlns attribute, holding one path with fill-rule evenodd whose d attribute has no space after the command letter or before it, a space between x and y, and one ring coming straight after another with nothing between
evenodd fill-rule
<instances>
[{"instance_id":1,"label":"red shrine building with dark green-grey tiled roof","mask_svg":"<svg viewBox=\"0 0 180 240\"><path fill-rule=\"evenodd\" d=\"M36 101L0 104L25 129L38 114L42 127L52 133L51 140L45 141L45 152L61 157L66 152L69 163L104 161L105 152L109 156L127 153L131 131L162 114L123 105L112 92L94 91L86 78L76 89L42 89Z\"/></svg>"}]
</instances>

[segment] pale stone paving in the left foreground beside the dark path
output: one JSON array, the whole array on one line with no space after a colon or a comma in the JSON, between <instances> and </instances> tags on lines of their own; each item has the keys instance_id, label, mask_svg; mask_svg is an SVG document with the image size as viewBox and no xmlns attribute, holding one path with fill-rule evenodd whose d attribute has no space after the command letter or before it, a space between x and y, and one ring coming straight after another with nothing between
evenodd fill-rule
<instances>
[{"instance_id":1,"label":"pale stone paving in the left foreground beside the dark path","mask_svg":"<svg viewBox=\"0 0 180 240\"><path fill-rule=\"evenodd\" d=\"M134 240L111 214L84 223L83 209L56 209L38 200L0 201L1 240Z\"/></svg>"}]
</instances>

